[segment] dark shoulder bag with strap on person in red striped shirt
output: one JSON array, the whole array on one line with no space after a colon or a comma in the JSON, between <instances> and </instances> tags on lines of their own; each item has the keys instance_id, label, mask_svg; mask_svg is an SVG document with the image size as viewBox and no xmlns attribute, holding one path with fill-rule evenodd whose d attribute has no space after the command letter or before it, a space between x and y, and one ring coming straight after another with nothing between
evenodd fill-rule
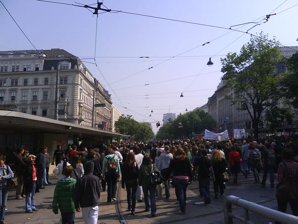
<instances>
[{"instance_id":1,"label":"dark shoulder bag with strap on person in red striped shirt","mask_svg":"<svg viewBox=\"0 0 298 224\"><path fill-rule=\"evenodd\" d=\"M283 162L284 165L284 179L281 183L276 185L276 198L277 199L286 199L287 201L295 201L297 200L296 195L292 191L292 184L290 183L290 177L288 175L288 167L286 163Z\"/></svg>"}]
</instances>

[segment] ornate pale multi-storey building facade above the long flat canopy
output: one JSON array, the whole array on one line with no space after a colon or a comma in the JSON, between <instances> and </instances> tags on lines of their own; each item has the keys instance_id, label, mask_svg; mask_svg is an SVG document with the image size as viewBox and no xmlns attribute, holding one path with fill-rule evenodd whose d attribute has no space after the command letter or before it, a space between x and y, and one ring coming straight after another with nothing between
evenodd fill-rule
<instances>
[{"instance_id":1,"label":"ornate pale multi-storey building facade above the long flat canopy","mask_svg":"<svg viewBox=\"0 0 298 224\"><path fill-rule=\"evenodd\" d=\"M94 104L101 104L95 107ZM0 109L113 130L110 94L69 52L0 51Z\"/></svg>"}]
</instances>

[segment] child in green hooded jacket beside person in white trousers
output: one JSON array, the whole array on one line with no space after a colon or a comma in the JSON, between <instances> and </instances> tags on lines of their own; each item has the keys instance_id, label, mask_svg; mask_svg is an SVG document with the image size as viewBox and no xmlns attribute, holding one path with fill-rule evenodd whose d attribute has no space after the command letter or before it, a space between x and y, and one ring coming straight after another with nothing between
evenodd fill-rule
<instances>
[{"instance_id":1,"label":"child in green hooded jacket beside person in white trousers","mask_svg":"<svg viewBox=\"0 0 298 224\"><path fill-rule=\"evenodd\" d=\"M59 180L54 191L52 209L55 214L58 214L58 207L61 212L62 224L74 223L74 208L73 194L77 180L71 178L73 168L71 166L64 167L63 173L65 178Z\"/></svg>"}]
</instances>

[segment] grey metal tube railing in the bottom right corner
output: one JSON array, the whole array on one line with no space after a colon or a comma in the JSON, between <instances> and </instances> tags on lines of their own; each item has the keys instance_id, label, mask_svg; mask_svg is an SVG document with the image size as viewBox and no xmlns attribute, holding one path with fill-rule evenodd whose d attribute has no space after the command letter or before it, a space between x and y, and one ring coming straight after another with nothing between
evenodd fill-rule
<instances>
[{"instance_id":1,"label":"grey metal tube railing in the bottom right corner","mask_svg":"<svg viewBox=\"0 0 298 224\"><path fill-rule=\"evenodd\" d=\"M244 218L232 213L232 205L237 205L244 209ZM224 204L225 224L233 224L234 218L245 224L253 224L253 222L249 220L249 211L265 216L272 220L279 221L283 224L298 224L297 216L276 211L274 209L267 208L262 205L245 201L235 196L228 196L225 199L225 204Z\"/></svg>"}]
</instances>

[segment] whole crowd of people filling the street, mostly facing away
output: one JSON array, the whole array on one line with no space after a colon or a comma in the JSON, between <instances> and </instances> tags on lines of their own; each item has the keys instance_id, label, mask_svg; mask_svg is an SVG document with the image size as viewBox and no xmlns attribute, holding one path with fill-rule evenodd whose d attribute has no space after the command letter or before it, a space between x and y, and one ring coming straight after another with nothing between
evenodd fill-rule
<instances>
[{"instance_id":1,"label":"whole crowd of people filling the street, mostly facing away","mask_svg":"<svg viewBox=\"0 0 298 224\"><path fill-rule=\"evenodd\" d=\"M19 149L15 158L16 199L25 198L25 211L32 213L37 210L34 194L50 184L50 156L43 147L37 156ZM107 203L117 201L117 183L121 181L127 192L127 209L132 215L138 201L144 202L145 211L151 211L155 217L156 197L162 199L164 189L165 199L169 199L171 185L175 187L175 199L180 207L177 212L183 215L187 212L187 187L192 181L198 181L198 197L210 204L211 180L216 200L224 196L229 179L237 184L241 172L243 179L253 173L254 183L260 187L266 186L268 173L271 187L275 187L275 179L279 183L277 189L281 184L287 184L294 196L290 198L277 193L278 210L285 212L289 203L293 214L298 216L297 160L296 139L284 137L223 142L194 139L147 144L121 142L102 144L89 150L75 145L62 150L58 145L52 158L52 164L55 162L56 165L53 173L58 179L52 208L55 214L60 210L62 223L74 223L75 211L81 210L85 223L97 223L100 192L107 190ZM0 223L5 223L5 181L14 175L4 162L5 158L0 156L3 199ZM263 170L262 178L260 170ZM152 177L156 174L161 181L153 183Z\"/></svg>"}]
</instances>

